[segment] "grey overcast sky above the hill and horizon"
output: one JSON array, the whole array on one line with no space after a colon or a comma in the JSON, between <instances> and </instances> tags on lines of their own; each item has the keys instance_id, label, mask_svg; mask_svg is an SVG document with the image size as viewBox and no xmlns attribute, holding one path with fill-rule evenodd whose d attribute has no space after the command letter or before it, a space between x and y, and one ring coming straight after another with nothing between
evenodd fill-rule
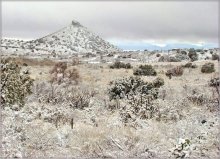
<instances>
[{"instance_id":1,"label":"grey overcast sky above the hill and horizon","mask_svg":"<svg viewBox=\"0 0 220 159\"><path fill-rule=\"evenodd\" d=\"M73 19L124 48L218 43L217 1L2 2L3 37L40 38Z\"/></svg>"}]
</instances>

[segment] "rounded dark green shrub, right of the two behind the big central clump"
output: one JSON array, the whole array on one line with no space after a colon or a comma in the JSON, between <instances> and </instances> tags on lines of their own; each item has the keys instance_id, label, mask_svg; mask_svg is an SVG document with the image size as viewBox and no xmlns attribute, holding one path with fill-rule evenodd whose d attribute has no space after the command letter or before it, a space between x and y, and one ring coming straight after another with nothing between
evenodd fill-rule
<instances>
[{"instance_id":1,"label":"rounded dark green shrub, right of the two behind the big central clump","mask_svg":"<svg viewBox=\"0 0 220 159\"><path fill-rule=\"evenodd\" d=\"M140 65L133 70L133 74L141 76L156 76L157 72L152 65Z\"/></svg>"}]
</instances>

